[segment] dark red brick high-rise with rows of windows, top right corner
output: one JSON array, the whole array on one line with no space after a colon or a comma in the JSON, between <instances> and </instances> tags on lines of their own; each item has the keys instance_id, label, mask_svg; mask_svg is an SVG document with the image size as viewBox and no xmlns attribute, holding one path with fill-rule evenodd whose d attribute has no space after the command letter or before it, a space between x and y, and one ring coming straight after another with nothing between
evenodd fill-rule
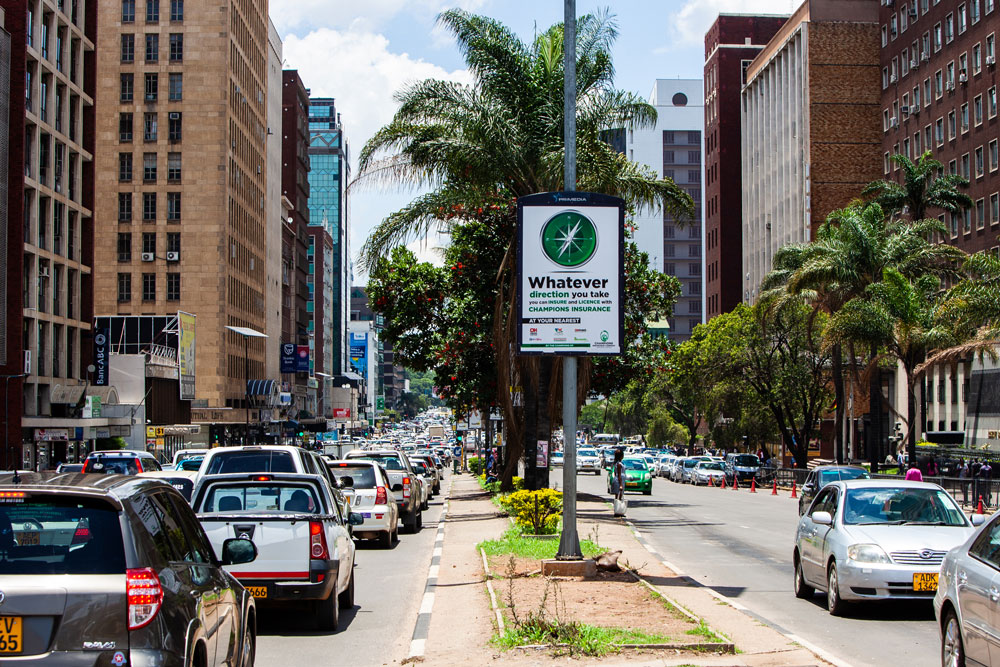
<instances>
[{"instance_id":1,"label":"dark red brick high-rise with rows of windows, top right corner","mask_svg":"<svg viewBox=\"0 0 1000 667\"><path fill-rule=\"evenodd\" d=\"M889 156L924 151L969 179L970 209L929 211L948 227L946 241L967 252L998 251L1000 119L997 117L996 0L882 3L879 174L901 180Z\"/></svg>"}]
</instances>

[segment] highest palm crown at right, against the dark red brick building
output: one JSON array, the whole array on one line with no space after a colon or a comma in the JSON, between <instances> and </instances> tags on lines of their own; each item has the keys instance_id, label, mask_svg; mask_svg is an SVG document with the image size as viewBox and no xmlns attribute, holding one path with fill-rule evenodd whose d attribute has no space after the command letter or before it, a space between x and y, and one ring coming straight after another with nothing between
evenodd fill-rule
<instances>
[{"instance_id":1,"label":"highest palm crown at right, against the dark red brick building","mask_svg":"<svg viewBox=\"0 0 1000 667\"><path fill-rule=\"evenodd\" d=\"M903 182L873 181L862 194L882 206L887 215L908 212L910 220L923 220L930 209L958 214L972 206L972 199L959 188L969 187L969 180L958 174L944 174L944 165L926 151L914 162L905 155L889 158L903 171Z\"/></svg>"}]
</instances>

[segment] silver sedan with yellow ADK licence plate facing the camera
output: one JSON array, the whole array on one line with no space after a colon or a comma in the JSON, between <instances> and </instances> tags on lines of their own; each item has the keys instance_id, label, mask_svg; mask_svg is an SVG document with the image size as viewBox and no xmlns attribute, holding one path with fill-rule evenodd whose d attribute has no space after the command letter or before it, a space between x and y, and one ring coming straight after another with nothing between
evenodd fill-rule
<instances>
[{"instance_id":1,"label":"silver sedan with yellow ADK licence plate facing the camera","mask_svg":"<svg viewBox=\"0 0 1000 667\"><path fill-rule=\"evenodd\" d=\"M792 552L795 595L825 591L833 615L845 613L850 601L929 600L945 554L973 531L937 484L831 482L799 519Z\"/></svg>"}]
</instances>

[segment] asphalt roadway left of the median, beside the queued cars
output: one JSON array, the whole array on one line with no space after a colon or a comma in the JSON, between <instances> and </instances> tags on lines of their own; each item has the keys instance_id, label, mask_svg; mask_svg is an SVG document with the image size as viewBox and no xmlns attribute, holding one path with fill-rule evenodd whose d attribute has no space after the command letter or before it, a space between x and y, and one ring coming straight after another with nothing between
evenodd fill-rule
<instances>
[{"instance_id":1,"label":"asphalt roadway left of the median, beside the queued cars","mask_svg":"<svg viewBox=\"0 0 1000 667\"><path fill-rule=\"evenodd\" d=\"M417 535L400 533L392 549L360 543L355 569L354 609L341 610L335 634L311 628L307 613L261 610L258 623L259 667L283 665L386 665L406 657L423 597L427 568L448 477L441 494L424 511Z\"/></svg>"}]
</instances>

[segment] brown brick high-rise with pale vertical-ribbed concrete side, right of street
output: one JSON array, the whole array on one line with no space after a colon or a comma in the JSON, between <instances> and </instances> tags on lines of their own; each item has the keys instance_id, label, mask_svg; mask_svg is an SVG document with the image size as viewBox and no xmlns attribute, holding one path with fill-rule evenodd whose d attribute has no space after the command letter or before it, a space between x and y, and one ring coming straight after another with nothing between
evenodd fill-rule
<instances>
[{"instance_id":1,"label":"brown brick high-rise with pale vertical-ribbed concrete side, right of street","mask_svg":"<svg viewBox=\"0 0 1000 667\"><path fill-rule=\"evenodd\" d=\"M878 5L806 0L747 66L743 299L774 253L806 243L882 174Z\"/></svg>"}]
</instances>

